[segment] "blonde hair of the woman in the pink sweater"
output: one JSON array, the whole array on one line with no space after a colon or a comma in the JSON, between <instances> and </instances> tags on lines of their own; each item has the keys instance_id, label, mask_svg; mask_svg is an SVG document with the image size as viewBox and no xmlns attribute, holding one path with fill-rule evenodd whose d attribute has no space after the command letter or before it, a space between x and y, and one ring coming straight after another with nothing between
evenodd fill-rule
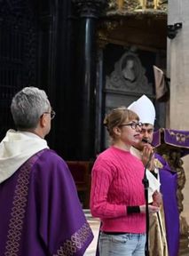
<instances>
[{"instance_id":1,"label":"blonde hair of the woman in the pink sweater","mask_svg":"<svg viewBox=\"0 0 189 256\"><path fill-rule=\"evenodd\" d=\"M104 119L104 125L110 137L114 139L114 127L118 127L123 123L129 123L132 120L138 120L138 115L125 107L114 108Z\"/></svg>"}]
</instances>

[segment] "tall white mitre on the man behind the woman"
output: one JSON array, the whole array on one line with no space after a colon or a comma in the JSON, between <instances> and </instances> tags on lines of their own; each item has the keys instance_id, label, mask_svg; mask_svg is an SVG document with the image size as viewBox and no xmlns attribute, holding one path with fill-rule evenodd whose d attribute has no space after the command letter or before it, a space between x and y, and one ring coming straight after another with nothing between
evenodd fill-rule
<instances>
[{"instance_id":1,"label":"tall white mitre on the man behind the woman","mask_svg":"<svg viewBox=\"0 0 189 256\"><path fill-rule=\"evenodd\" d=\"M128 109L138 114L140 122L143 124L153 124L155 120L155 108L153 102L146 97L141 96L138 100L134 101Z\"/></svg>"}]
</instances>

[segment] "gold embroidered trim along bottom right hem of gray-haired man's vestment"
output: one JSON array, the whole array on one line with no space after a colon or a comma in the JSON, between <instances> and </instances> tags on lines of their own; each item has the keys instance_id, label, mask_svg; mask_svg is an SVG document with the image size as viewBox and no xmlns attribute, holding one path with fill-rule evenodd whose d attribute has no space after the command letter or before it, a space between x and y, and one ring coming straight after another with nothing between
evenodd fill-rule
<instances>
[{"instance_id":1,"label":"gold embroidered trim along bottom right hem of gray-haired man's vestment","mask_svg":"<svg viewBox=\"0 0 189 256\"><path fill-rule=\"evenodd\" d=\"M91 235L91 228L88 223L85 223L70 239L60 246L59 250L53 256L72 256L77 250L83 247L87 238Z\"/></svg>"}]
</instances>

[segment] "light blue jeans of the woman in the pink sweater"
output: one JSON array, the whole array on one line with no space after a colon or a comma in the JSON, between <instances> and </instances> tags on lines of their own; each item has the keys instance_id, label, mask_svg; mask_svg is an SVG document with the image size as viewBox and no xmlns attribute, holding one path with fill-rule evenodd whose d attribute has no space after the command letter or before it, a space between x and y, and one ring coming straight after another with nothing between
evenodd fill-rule
<instances>
[{"instance_id":1,"label":"light blue jeans of the woman in the pink sweater","mask_svg":"<svg viewBox=\"0 0 189 256\"><path fill-rule=\"evenodd\" d=\"M146 234L107 235L100 233L100 256L145 256Z\"/></svg>"}]
</instances>

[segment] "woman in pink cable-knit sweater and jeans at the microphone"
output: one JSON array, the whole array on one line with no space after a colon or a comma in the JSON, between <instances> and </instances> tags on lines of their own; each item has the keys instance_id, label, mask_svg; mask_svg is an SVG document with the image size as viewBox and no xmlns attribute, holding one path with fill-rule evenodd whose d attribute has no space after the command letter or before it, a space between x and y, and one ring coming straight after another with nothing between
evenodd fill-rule
<instances>
[{"instance_id":1,"label":"woman in pink cable-knit sweater and jeans at the microphone","mask_svg":"<svg viewBox=\"0 0 189 256\"><path fill-rule=\"evenodd\" d=\"M91 180L91 214L102 223L100 256L145 255L144 165L130 154L130 147L140 140L138 120L131 110L116 108L104 121L112 145L98 156ZM150 213L157 211L149 205Z\"/></svg>"}]
</instances>

